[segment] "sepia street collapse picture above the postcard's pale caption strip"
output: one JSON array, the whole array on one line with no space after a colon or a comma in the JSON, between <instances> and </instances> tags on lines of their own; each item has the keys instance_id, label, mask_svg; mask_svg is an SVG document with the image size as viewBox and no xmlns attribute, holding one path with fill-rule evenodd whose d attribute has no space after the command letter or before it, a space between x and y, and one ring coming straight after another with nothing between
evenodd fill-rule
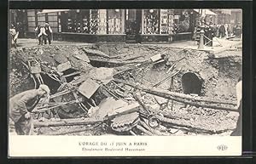
<instances>
[{"instance_id":1,"label":"sepia street collapse picture above the postcard's pale caption strip","mask_svg":"<svg viewBox=\"0 0 256 164\"><path fill-rule=\"evenodd\" d=\"M239 8L9 9L9 137L241 137L242 28Z\"/></svg>"}]
</instances>

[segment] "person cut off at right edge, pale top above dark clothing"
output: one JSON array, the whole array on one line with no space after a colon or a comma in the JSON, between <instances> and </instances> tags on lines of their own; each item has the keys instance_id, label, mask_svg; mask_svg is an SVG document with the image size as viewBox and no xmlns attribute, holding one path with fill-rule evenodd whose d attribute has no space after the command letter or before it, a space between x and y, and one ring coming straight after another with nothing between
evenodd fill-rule
<instances>
[{"instance_id":1,"label":"person cut off at right edge, pale top above dark clothing","mask_svg":"<svg viewBox=\"0 0 256 164\"><path fill-rule=\"evenodd\" d=\"M231 136L241 136L241 110L242 110L242 80L241 77L238 79L236 84L236 99L237 99L237 110L239 112L239 116L236 122L236 129L230 134Z\"/></svg>"}]
</instances>

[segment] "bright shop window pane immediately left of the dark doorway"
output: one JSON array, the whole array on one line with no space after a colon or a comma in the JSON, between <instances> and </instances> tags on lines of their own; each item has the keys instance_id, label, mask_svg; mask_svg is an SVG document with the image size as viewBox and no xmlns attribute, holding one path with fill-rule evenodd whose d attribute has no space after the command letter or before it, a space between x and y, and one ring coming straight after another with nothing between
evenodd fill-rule
<instances>
[{"instance_id":1,"label":"bright shop window pane immediately left of the dark doorway","mask_svg":"<svg viewBox=\"0 0 256 164\"><path fill-rule=\"evenodd\" d=\"M123 33L123 10L108 9L108 34L122 34Z\"/></svg>"}]
</instances>

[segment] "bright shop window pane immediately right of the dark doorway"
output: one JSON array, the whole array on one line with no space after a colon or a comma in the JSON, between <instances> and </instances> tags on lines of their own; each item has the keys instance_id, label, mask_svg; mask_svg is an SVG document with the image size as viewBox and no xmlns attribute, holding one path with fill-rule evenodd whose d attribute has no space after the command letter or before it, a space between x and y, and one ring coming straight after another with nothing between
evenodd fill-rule
<instances>
[{"instance_id":1,"label":"bright shop window pane immediately right of the dark doorway","mask_svg":"<svg viewBox=\"0 0 256 164\"><path fill-rule=\"evenodd\" d=\"M158 9L144 9L143 20L144 34L160 33L160 12Z\"/></svg>"}]
</instances>

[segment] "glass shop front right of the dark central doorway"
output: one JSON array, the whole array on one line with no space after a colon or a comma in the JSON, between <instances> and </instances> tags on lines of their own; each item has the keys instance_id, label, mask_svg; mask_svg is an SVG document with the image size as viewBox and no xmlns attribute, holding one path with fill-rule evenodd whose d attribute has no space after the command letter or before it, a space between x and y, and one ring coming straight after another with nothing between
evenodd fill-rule
<instances>
[{"instance_id":1,"label":"glass shop front right of the dark central doorway","mask_svg":"<svg viewBox=\"0 0 256 164\"><path fill-rule=\"evenodd\" d=\"M189 9L143 9L141 42L190 40L194 11Z\"/></svg>"}]
</instances>

